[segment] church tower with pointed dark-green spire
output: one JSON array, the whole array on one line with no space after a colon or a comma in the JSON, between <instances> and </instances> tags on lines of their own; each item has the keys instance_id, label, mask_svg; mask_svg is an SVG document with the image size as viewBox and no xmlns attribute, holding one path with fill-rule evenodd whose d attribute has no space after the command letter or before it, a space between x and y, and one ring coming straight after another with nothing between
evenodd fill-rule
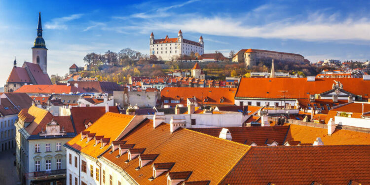
<instances>
[{"instance_id":1,"label":"church tower with pointed dark-green spire","mask_svg":"<svg viewBox=\"0 0 370 185\"><path fill-rule=\"evenodd\" d=\"M42 38L41 13L38 12L37 37L32 47L32 63L38 64L44 74L47 73L47 48Z\"/></svg>"}]
</instances>

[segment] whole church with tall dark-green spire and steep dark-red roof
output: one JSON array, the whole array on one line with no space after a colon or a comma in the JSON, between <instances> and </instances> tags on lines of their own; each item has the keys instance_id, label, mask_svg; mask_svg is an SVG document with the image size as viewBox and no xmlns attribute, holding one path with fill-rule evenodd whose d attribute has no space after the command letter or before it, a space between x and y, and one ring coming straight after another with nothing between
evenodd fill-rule
<instances>
[{"instance_id":1,"label":"whole church with tall dark-green spire and steep dark-red roof","mask_svg":"<svg viewBox=\"0 0 370 185\"><path fill-rule=\"evenodd\" d=\"M41 13L38 13L37 37L32 47L32 63L24 62L22 67L17 67L14 58L13 69L9 74L4 92L14 92L23 85L38 84L51 85L47 74L47 48L42 38Z\"/></svg>"}]
</instances>

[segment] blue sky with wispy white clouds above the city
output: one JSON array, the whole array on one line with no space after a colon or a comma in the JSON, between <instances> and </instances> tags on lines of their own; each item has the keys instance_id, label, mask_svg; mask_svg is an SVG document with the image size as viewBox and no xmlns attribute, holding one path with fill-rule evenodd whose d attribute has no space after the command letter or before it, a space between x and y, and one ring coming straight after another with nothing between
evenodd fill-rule
<instances>
[{"instance_id":1,"label":"blue sky with wispy white clouds above the city","mask_svg":"<svg viewBox=\"0 0 370 185\"><path fill-rule=\"evenodd\" d=\"M14 56L32 61L41 11L48 74L83 65L89 52L149 52L149 35L198 40L205 52L255 48L293 52L311 62L370 60L369 0L0 0L0 81Z\"/></svg>"}]
</instances>

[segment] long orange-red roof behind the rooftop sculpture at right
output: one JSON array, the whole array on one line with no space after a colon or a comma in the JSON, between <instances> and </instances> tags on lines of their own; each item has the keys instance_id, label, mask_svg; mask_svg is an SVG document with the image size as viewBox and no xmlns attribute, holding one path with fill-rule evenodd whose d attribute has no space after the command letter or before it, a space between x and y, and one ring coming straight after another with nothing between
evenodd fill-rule
<instances>
[{"instance_id":1,"label":"long orange-red roof behind the rooftop sculpture at right","mask_svg":"<svg viewBox=\"0 0 370 185\"><path fill-rule=\"evenodd\" d=\"M332 89L334 80L343 84L343 90L369 98L370 80L362 78L242 78L235 98L309 98ZM259 87L259 88L254 88ZM283 94L281 91L287 91Z\"/></svg>"}]
</instances>

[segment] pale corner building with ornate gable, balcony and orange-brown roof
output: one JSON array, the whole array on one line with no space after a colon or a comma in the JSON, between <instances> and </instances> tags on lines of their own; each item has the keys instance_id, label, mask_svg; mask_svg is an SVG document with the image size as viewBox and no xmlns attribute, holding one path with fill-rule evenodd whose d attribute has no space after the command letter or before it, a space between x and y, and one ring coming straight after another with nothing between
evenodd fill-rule
<instances>
[{"instance_id":1,"label":"pale corner building with ornate gable, balcony and orange-brown roof","mask_svg":"<svg viewBox=\"0 0 370 185\"><path fill-rule=\"evenodd\" d=\"M85 127L70 116L54 116L32 105L18 114L16 165L23 185L66 183L66 149L62 146Z\"/></svg>"}]
</instances>

